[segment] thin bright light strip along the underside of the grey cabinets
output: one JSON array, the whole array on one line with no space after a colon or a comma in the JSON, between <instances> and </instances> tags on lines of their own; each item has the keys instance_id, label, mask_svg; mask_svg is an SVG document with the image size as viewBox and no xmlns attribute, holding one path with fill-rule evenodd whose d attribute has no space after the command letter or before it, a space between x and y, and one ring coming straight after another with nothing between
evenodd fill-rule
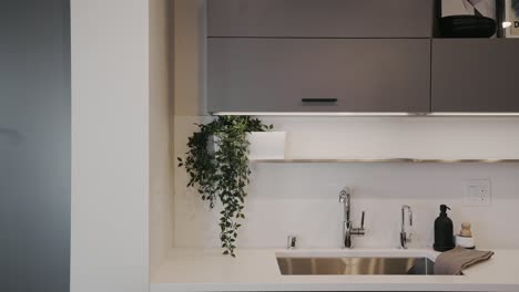
<instances>
[{"instance_id":1,"label":"thin bright light strip along the underside of the grey cabinets","mask_svg":"<svg viewBox=\"0 0 519 292\"><path fill-rule=\"evenodd\" d=\"M252 116L519 116L519 113L326 113L326 112L216 112L213 115Z\"/></svg>"}]
</instances>

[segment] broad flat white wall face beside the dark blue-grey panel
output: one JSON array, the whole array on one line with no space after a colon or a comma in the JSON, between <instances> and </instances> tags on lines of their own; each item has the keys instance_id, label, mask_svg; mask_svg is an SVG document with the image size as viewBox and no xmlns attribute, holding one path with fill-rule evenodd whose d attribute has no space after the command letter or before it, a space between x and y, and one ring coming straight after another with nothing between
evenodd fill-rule
<instances>
[{"instance_id":1,"label":"broad flat white wall face beside the dark blue-grey panel","mask_svg":"<svg viewBox=\"0 0 519 292\"><path fill-rule=\"evenodd\" d=\"M149 1L72 0L71 22L71 291L147 291Z\"/></svg>"}]
</instances>

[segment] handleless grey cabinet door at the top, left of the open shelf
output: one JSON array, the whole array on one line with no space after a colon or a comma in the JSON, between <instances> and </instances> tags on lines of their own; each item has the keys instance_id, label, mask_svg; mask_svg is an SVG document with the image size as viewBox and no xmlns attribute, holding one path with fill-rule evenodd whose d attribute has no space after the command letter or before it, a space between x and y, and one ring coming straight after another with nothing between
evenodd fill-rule
<instances>
[{"instance_id":1,"label":"handleless grey cabinet door at the top, left of the open shelf","mask_svg":"<svg viewBox=\"0 0 519 292\"><path fill-rule=\"evenodd\" d=\"M210 36L429 38L432 0L208 0Z\"/></svg>"}]
</instances>

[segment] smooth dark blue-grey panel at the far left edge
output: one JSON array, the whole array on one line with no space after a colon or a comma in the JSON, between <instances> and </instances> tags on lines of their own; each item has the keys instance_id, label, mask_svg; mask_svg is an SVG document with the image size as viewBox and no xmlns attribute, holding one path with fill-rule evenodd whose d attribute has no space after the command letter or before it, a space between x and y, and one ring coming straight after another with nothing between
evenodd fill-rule
<instances>
[{"instance_id":1,"label":"smooth dark blue-grey panel at the far left edge","mask_svg":"<svg viewBox=\"0 0 519 292\"><path fill-rule=\"evenodd\" d=\"M0 291L70 290L69 0L0 0Z\"/></svg>"}]
</instances>

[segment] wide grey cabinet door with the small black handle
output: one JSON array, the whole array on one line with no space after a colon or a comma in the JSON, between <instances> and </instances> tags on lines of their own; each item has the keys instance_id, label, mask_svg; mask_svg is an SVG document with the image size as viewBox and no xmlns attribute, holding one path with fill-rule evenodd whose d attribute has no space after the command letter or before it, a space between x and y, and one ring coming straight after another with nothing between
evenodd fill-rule
<instances>
[{"instance_id":1,"label":"wide grey cabinet door with the small black handle","mask_svg":"<svg viewBox=\"0 0 519 292\"><path fill-rule=\"evenodd\" d=\"M211 113L429 111L429 40L212 38L207 66Z\"/></svg>"}]
</instances>

